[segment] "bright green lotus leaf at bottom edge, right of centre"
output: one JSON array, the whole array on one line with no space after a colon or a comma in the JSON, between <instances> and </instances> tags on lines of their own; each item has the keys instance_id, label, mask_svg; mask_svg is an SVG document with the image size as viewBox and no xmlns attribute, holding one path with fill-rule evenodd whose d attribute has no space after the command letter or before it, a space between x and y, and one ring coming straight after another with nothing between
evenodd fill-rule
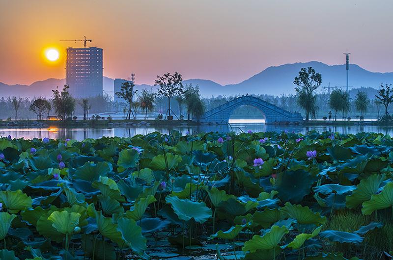
<instances>
[{"instance_id":1,"label":"bright green lotus leaf at bottom edge, right of centre","mask_svg":"<svg viewBox=\"0 0 393 260\"><path fill-rule=\"evenodd\" d=\"M273 249L280 243L282 236L288 232L286 227L273 226L263 236L254 235L251 240L246 241L242 250L253 253L257 250Z\"/></svg>"}]
</instances>

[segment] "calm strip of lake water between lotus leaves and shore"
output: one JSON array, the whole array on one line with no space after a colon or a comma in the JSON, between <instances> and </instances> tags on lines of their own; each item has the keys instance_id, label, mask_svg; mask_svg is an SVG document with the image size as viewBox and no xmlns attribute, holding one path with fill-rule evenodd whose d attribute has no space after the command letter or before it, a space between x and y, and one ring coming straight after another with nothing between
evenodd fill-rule
<instances>
[{"instance_id":1,"label":"calm strip of lake water between lotus leaves and shore","mask_svg":"<svg viewBox=\"0 0 393 260\"><path fill-rule=\"evenodd\" d=\"M13 138L25 138L32 139L49 137L53 139L76 139L83 140L85 138L101 138L103 136L120 136L120 137L132 137L136 134L148 134L154 131L162 133L169 133L170 130L178 130L185 134L187 131L190 133L198 132L228 132L235 131L247 132L252 130L253 132L266 132L266 131L295 131L300 133L306 133L309 130L316 131L334 131L339 133L358 133L358 132L382 132L384 134L390 134L393 136L393 127L380 127L380 126L274 126L266 125L263 120L230 120L230 125L213 125L213 126L196 126L196 127L121 127L121 128L45 128L45 129L0 129L1 136L11 135Z\"/></svg>"}]
</instances>

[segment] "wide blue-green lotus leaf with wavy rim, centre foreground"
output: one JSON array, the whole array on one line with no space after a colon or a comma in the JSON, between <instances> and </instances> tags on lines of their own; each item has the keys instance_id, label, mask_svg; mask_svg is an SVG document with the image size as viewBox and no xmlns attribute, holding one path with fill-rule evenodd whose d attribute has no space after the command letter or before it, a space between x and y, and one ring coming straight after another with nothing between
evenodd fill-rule
<instances>
[{"instance_id":1,"label":"wide blue-green lotus leaf with wavy rim, centre foreground","mask_svg":"<svg viewBox=\"0 0 393 260\"><path fill-rule=\"evenodd\" d=\"M199 223L204 223L212 216L212 210L206 207L204 202L193 202L188 199L167 196L166 202L171 205L173 211L181 220L189 221L194 219Z\"/></svg>"}]
</instances>

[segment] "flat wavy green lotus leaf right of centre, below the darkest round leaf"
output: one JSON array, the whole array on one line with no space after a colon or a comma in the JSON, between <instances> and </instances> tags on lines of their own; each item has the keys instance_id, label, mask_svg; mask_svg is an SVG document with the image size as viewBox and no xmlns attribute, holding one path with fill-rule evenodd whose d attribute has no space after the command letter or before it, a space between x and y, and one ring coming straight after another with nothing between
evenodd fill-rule
<instances>
[{"instance_id":1,"label":"flat wavy green lotus leaf right of centre, below the darkest round leaf","mask_svg":"<svg viewBox=\"0 0 393 260\"><path fill-rule=\"evenodd\" d=\"M315 224L319 226L326 223L326 217L321 217L319 212L315 213L309 207L292 205L287 202L280 210L289 217L296 219L299 224Z\"/></svg>"}]
</instances>

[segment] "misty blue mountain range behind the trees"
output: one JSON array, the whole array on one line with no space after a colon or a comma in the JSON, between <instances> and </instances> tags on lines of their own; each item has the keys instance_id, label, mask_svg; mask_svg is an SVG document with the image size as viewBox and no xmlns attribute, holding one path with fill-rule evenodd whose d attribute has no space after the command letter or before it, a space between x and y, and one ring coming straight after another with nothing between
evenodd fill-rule
<instances>
[{"instance_id":1,"label":"misty blue mountain range behind the trees","mask_svg":"<svg viewBox=\"0 0 393 260\"><path fill-rule=\"evenodd\" d=\"M269 95L290 94L294 93L293 79L298 75L300 69L304 67L313 67L317 72L322 74L322 86L328 86L329 83L331 87L346 85L345 65L327 65L318 61L269 67L240 83L224 86L207 79L186 79L183 82L186 84L192 83L194 86L198 85L200 93L204 97L219 95L231 96L246 93ZM350 65L349 85L352 88L372 87L377 89L381 82L393 83L393 72L370 72L356 64ZM31 85L7 85L0 82L0 93L1 96L49 97L52 95L52 89L55 89L56 86L61 87L64 83L64 78L48 78L34 82ZM156 88L150 85L137 85L137 89L149 87ZM112 78L104 77L104 92L113 95Z\"/></svg>"}]
</instances>

